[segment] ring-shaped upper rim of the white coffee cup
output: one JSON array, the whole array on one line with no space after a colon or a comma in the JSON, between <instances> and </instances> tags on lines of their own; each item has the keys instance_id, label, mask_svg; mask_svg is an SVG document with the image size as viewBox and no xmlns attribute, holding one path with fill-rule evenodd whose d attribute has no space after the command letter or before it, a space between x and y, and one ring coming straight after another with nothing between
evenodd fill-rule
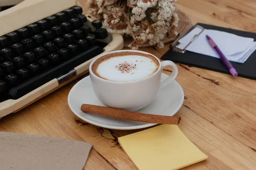
<instances>
[{"instance_id":1,"label":"ring-shaped upper rim of the white coffee cup","mask_svg":"<svg viewBox=\"0 0 256 170\"><path fill-rule=\"evenodd\" d=\"M93 63L96 62L97 59L101 58L101 57L104 57L105 55L108 55L108 54L112 54L112 53L119 53L119 52L137 52L137 53L142 53L142 54L148 54L148 55L151 55L152 57L156 58L157 61L159 62L159 68L156 72L154 72L153 74L151 74L150 76L148 77L145 77L143 79L137 79L137 80L133 80L133 81L111 81L111 80L107 80L107 79L103 79L101 77L98 77L96 76L96 74L93 73L92 71L92 66L93 66ZM139 51L139 50L117 50L117 51L111 51L111 52L108 52L108 53L104 53L104 54L101 54L99 55L98 57L96 57L95 59L93 59L93 61L90 63L90 66L89 66L89 73L90 75L93 75L96 79L99 79L99 80L102 80L102 81L105 81L105 82L112 82L112 83L119 83L119 84L128 84L128 83L134 83L134 82L140 82L140 81L143 81L145 79L150 79L152 76L154 76L155 74L157 74L159 71L161 71L162 69L160 69L162 67L161 65L161 61L160 59L158 59L156 56L154 56L153 54L150 54L148 52L145 52L145 51Z\"/></svg>"}]
</instances>

